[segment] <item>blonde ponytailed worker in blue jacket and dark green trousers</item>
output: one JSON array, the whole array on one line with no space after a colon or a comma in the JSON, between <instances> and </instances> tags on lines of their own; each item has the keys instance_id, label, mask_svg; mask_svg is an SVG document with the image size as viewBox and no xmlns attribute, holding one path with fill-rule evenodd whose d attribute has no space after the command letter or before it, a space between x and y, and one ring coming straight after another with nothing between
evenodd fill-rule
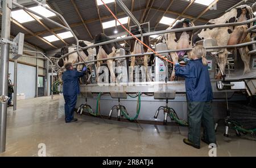
<instances>
[{"instance_id":1,"label":"blonde ponytailed worker in blue jacket and dark green trousers","mask_svg":"<svg viewBox=\"0 0 256 168\"><path fill-rule=\"evenodd\" d=\"M188 139L184 143L200 149L201 122L204 126L202 141L207 144L216 144L214 118L212 111L212 85L208 72L208 63L205 58L207 51L201 45L192 49L191 61L185 59L186 66L175 64L175 75L185 77L188 106Z\"/></svg>"}]
</instances>

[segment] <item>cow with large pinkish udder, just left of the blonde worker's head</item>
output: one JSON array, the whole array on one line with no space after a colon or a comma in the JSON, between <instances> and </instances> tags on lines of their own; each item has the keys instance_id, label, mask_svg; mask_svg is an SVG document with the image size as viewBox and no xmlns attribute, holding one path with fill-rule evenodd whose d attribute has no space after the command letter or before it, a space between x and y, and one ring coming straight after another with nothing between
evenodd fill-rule
<instances>
[{"instance_id":1,"label":"cow with large pinkish udder, just left of the blonde worker's head","mask_svg":"<svg viewBox=\"0 0 256 168\"><path fill-rule=\"evenodd\" d=\"M190 20L181 19L174 25L174 27L168 28L168 29L177 29L177 28L185 28L185 27L193 27L193 26L195 25ZM167 44L168 50L180 50L180 49L192 48L191 40L192 40L192 31L171 32L171 33L164 34L162 42ZM190 58L191 57L190 52L187 52L187 51L170 53L172 62L177 63L179 61L179 58L184 57L186 53ZM175 79L175 70L174 70L174 64L173 64L171 80L174 80L174 79Z\"/></svg>"}]
</instances>

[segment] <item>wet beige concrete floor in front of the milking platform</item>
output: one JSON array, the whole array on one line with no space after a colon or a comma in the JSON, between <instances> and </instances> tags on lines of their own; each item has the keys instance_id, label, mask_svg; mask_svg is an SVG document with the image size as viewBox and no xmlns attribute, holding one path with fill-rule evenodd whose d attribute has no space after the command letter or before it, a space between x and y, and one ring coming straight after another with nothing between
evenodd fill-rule
<instances>
[{"instance_id":1,"label":"wet beige concrete floor in front of the milking platform","mask_svg":"<svg viewBox=\"0 0 256 168\"><path fill-rule=\"evenodd\" d=\"M6 152L0 156L38 156L38 145L46 144L46 156L208 156L201 149L183 144L187 128L117 122L79 116L77 123L64 122L61 96L18 101L18 110L7 114ZM103 110L103 109L101 109ZM217 133L217 156L256 156L255 139L226 138Z\"/></svg>"}]
</instances>

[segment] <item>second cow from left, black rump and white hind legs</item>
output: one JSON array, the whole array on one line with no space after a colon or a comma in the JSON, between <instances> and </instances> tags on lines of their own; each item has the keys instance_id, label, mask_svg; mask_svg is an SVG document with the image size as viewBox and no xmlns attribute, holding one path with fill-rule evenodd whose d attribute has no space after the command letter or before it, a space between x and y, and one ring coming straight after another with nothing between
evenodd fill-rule
<instances>
[{"instance_id":1,"label":"second cow from left, black rump and white hind legs","mask_svg":"<svg viewBox=\"0 0 256 168\"><path fill-rule=\"evenodd\" d=\"M109 40L114 40L114 38L110 38L102 33L99 33L95 37L95 44L98 44L100 42L109 41ZM117 54L117 50L121 49L121 48L123 48L123 47L121 45L119 45L118 42L112 42L110 44L97 46L96 47L97 59L115 57L115 55ZM103 63L102 61L97 62L97 77L99 75L99 70L100 70L100 66L102 63ZM115 69L114 69L114 64L113 64L114 61L113 61L113 59L108 59L106 61L106 63L108 64L111 80L113 83L115 83Z\"/></svg>"}]
</instances>

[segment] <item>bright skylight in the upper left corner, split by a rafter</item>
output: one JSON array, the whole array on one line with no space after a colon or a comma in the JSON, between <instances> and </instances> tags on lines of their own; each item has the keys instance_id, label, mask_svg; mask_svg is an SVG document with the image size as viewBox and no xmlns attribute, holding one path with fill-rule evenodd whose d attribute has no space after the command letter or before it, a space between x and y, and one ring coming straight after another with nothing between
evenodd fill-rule
<instances>
[{"instance_id":1,"label":"bright skylight in the upper left corner, split by a rafter","mask_svg":"<svg viewBox=\"0 0 256 168\"><path fill-rule=\"evenodd\" d=\"M46 5L48 6L48 5ZM49 6L48 6L49 7ZM35 6L35 7L30 7L30 10L37 12L40 15L46 16L47 18L55 16L55 14L46 8L42 6ZM42 19L39 16L35 15L38 19ZM11 18L15 19L19 23L26 23L28 21L34 21L35 19L32 18L30 15L27 14L26 11L24 10L16 10L16 11L11 11Z\"/></svg>"}]
</instances>

